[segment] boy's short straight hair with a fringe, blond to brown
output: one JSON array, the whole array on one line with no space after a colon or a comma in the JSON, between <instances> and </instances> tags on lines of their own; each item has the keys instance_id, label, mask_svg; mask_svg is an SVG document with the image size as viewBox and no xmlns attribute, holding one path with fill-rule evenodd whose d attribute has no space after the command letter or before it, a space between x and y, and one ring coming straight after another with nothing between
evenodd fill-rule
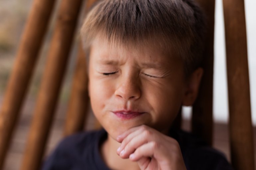
<instances>
[{"instance_id":1,"label":"boy's short straight hair with a fringe, blond to brown","mask_svg":"<svg viewBox=\"0 0 256 170\"><path fill-rule=\"evenodd\" d=\"M190 74L202 61L204 16L192 0L103 0L87 14L81 28L84 48L97 34L108 42L144 46L182 57Z\"/></svg>"}]
</instances>

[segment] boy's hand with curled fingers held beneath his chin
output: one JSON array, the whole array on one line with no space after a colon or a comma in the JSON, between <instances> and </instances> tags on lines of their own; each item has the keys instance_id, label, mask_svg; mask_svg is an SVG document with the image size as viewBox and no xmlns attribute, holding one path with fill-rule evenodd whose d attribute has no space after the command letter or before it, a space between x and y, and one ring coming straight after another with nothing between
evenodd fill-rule
<instances>
[{"instance_id":1,"label":"boy's hand with curled fingers held beneath his chin","mask_svg":"<svg viewBox=\"0 0 256 170\"><path fill-rule=\"evenodd\" d=\"M141 170L186 170L179 143L142 125L117 137L117 154L139 164Z\"/></svg>"}]
</instances>

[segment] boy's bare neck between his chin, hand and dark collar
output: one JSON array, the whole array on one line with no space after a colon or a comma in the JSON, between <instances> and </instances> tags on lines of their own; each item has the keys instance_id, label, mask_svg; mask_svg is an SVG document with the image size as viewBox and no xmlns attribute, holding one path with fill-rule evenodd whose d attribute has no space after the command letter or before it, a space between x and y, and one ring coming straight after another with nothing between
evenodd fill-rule
<instances>
[{"instance_id":1,"label":"boy's bare neck between his chin, hand and dark collar","mask_svg":"<svg viewBox=\"0 0 256 170\"><path fill-rule=\"evenodd\" d=\"M101 156L107 167L111 170L140 170L137 162L123 159L116 153L120 145L119 142L108 135L106 141L100 146Z\"/></svg>"}]
</instances>

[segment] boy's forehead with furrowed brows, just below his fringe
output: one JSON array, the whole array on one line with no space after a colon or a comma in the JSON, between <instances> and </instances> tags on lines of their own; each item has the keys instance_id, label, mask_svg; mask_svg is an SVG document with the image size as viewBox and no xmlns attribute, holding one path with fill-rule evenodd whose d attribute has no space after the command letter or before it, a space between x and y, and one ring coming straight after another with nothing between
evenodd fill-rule
<instances>
[{"instance_id":1,"label":"boy's forehead with furrowed brows, just below his fringe","mask_svg":"<svg viewBox=\"0 0 256 170\"><path fill-rule=\"evenodd\" d=\"M136 59L154 63L154 65L167 65L174 61L181 62L174 48L163 48L161 44L152 41L141 43L109 42L106 38L96 36L90 46L90 60L114 61L121 59Z\"/></svg>"}]
</instances>

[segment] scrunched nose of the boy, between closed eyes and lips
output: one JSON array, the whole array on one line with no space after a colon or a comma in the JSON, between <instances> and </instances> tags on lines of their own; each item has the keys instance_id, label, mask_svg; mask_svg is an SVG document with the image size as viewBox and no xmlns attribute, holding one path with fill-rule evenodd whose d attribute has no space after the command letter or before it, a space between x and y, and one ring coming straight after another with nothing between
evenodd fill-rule
<instances>
[{"instance_id":1,"label":"scrunched nose of the boy, between closed eyes and lips","mask_svg":"<svg viewBox=\"0 0 256 170\"><path fill-rule=\"evenodd\" d=\"M124 100L136 100L141 96L140 81L137 77L122 77L115 95Z\"/></svg>"}]
</instances>

